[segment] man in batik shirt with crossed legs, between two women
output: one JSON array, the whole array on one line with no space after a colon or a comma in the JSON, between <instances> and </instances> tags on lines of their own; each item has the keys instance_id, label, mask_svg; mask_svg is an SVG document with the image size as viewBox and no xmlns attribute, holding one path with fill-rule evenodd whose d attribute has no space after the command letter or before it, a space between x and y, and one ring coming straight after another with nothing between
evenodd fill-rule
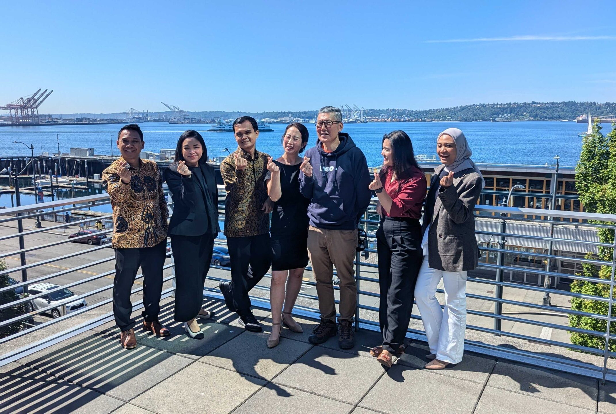
<instances>
[{"instance_id":1,"label":"man in batik shirt with crossed legs, between two women","mask_svg":"<svg viewBox=\"0 0 616 414\"><path fill-rule=\"evenodd\" d=\"M249 116L233 122L238 148L221 162L227 191L225 230L231 259L231 282L219 285L227 307L240 316L246 330L261 332L250 310L249 290L270 268L269 213L271 202L265 188L268 154L255 149L259 128Z\"/></svg>"}]
</instances>

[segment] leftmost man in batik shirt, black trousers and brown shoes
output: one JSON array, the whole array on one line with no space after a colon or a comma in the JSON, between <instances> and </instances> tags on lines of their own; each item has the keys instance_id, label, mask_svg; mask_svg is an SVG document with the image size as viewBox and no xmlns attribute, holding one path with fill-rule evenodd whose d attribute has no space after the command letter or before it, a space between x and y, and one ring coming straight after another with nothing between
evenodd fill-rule
<instances>
[{"instance_id":1,"label":"leftmost man in batik shirt, black trousers and brown shoes","mask_svg":"<svg viewBox=\"0 0 616 414\"><path fill-rule=\"evenodd\" d=\"M158 322L166 257L168 211L156 162L142 160L144 134L139 125L124 125L118 132L122 156L103 171L103 185L113 208L116 274L113 279L113 316L122 334L123 348L137 346L131 318L131 289L141 266L144 275L144 329L157 336L169 335Z\"/></svg>"}]
</instances>

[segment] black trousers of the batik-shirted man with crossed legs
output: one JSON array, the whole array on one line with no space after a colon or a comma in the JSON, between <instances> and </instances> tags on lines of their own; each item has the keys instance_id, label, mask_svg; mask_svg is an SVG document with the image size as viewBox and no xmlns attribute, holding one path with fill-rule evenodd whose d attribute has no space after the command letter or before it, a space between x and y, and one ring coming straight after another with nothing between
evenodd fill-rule
<instances>
[{"instance_id":1,"label":"black trousers of the batik-shirted man with crossed legs","mask_svg":"<svg viewBox=\"0 0 616 414\"><path fill-rule=\"evenodd\" d=\"M250 309L249 290L261 281L272 264L269 234L227 237L231 258L231 294L238 312Z\"/></svg>"}]
</instances>

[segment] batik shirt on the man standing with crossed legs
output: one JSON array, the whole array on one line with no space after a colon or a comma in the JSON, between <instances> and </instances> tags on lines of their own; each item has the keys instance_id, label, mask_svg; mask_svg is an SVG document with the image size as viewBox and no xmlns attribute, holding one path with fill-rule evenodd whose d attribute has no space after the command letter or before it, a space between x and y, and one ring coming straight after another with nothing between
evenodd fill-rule
<instances>
[{"instance_id":1,"label":"batik shirt on the man standing with crossed legs","mask_svg":"<svg viewBox=\"0 0 616 414\"><path fill-rule=\"evenodd\" d=\"M235 154L248 160L243 170L235 169ZM227 191L225 231L227 237L249 237L269 233L269 214L261 209L267 199L265 173L268 154L254 150L254 159L239 148L221 162Z\"/></svg>"}]
</instances>

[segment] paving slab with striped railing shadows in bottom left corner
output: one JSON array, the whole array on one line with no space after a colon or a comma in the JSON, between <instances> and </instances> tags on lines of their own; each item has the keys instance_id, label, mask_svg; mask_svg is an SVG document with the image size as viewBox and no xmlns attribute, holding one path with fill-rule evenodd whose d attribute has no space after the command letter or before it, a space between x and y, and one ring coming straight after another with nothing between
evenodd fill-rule
<instances>
[{"instance_id":1,"label":"paving slab with striped railing shadows in bottom left corner","mask_svg":"<svg viewBox=\"0 0 616 414\"><path fill-rule=\"evenodd\" d=\"M0 413L107 414L124 404L15 362L0 368Z\"/></svg>"}]
</instances>

